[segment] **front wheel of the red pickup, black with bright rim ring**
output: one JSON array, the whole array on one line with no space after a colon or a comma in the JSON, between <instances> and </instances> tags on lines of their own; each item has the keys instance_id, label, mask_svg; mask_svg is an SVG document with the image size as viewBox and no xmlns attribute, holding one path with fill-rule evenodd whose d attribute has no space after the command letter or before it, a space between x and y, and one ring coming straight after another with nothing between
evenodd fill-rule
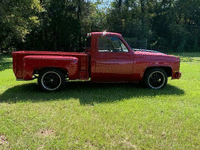
<instances>
[{"instance_id":1,"label":"front wheel of the red pickup, black with bright rim ring","mask_svg":"<svg viewBox=\"0 0 200 150\"><path fill-rule=\"evenodd\" d=\"M167 74L161 68L153 68L149 70L144 76L144 83L150 89L161 89L167 84Z\"/></svg>"}]
</instances>

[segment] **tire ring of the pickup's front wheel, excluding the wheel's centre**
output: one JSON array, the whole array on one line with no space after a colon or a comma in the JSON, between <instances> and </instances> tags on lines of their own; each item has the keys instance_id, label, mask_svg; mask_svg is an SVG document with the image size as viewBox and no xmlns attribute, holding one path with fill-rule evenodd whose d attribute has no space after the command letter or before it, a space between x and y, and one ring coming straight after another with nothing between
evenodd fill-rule
<instances>
[{"instance_id":1,"label":"tire ring of the pickup's front wheel, excluding the wheel's centre","mask_svg":"<svg viewBox=\"0 0 200 150\"><path fill-rule=\"evenodd\" d=\"M149 82L149 78L150 78L150 76L152 75L152 74L154 74L154 73L161 73L162 74L162 76L164 77L164 82L163 82L163 84L161 85L161 86L159 86L159 87L153 87ZM145 85L148 87L148 88L150 88L150 89L154 89L154 90L158 90L158 89L162 89L162 88L164 88L165 86L166 86L166 84L167 84L167 80L168 80L168 77L167 77L167 74L166 74L166 72L163 70L163 69L161 69L161 68L154 68L154 69L151 69L151 70L149 70L147 73L146 73L146 75L145 75Z\"/></svg>"}]
</instances>

